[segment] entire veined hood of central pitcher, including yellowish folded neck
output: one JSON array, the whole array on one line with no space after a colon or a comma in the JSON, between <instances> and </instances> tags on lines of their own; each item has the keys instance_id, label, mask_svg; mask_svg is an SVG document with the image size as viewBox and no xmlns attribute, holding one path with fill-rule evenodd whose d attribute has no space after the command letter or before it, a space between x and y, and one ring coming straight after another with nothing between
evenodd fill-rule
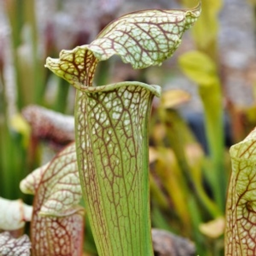
<instances>
[{"instance_id":1,"label":"entire veined hood of central pitcher, including yellowish folded neck","mask_svg":"<svg viewBox=\"0 0 256 256\"><path fill-rule=\"evenodd\" d=\"M117 54L133 68L159 65L172 56L184 31L201 12L201 5L187 10L147 10L126 14L110 23L97 38L71 51L62 50L59 59L47 58L46 67L77 89L92 86L98 61Z\"/></svg>"}]
</instances>

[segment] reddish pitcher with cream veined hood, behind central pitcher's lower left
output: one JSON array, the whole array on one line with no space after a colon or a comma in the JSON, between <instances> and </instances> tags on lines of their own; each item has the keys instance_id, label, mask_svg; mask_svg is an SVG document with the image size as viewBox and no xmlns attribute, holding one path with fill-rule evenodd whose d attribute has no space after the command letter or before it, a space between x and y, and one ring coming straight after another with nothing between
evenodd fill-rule
<instances>
[{"instance_id":1,"label":"reddish pitcher with cream veined hood, behind central pitcher's lower left","mask_svg":"<svg viewBox=\"0 0 256 256\"><path fill-rule=\"evenodd\" d=\"M35 256L82 254L83 209L81 186L72 143L52 161L32 172L20 187L35 193L31 220L32 252Z\"/></svg>"}]
</instances>

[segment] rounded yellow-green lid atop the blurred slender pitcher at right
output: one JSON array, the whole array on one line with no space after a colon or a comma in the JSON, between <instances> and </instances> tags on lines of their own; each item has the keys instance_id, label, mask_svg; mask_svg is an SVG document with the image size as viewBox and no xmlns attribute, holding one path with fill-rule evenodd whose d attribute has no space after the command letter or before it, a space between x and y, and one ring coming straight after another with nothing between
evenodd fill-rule
<instances>
[{"instance_id":1,"label":"rounded yellow-green lid atop the blurred slender pitcher at right","mask_svg":"<svg viewBox=\"0 0 256 256\"><path fill-rule=\"evenodd\" d=\"M216 64L210 57L200 51L184 53L179 57L182 71L194 82L202 86L210 86L216 83Z\"/></svg>"}]
</instances>

